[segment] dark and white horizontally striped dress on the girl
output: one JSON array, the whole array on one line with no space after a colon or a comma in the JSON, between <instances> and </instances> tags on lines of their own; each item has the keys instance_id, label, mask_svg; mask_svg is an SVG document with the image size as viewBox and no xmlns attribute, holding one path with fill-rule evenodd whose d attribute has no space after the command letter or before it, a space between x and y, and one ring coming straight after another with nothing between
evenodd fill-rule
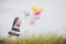
<instances>
[{"instance_id":1,"label":"dark and white horizontally striped dress on the girl","mask_svg":"<svg viewBox=\"0 0 66 44\"><path fill-rule=\"evenodd\" d=\"M11 36L20 36L20 24L14 24L9 32L9 35Z\"/></svg>"}]
</instances>

